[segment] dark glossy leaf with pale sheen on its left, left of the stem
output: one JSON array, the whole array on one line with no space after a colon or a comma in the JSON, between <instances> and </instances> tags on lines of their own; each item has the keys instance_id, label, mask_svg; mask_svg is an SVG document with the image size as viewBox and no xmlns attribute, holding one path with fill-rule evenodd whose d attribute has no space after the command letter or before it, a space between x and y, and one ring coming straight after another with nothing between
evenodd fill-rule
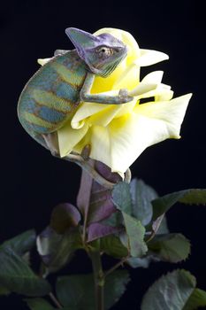
<instances>
[{"instance_id":1,"label":"dark glossy leaf with pale sheen on its left, left of the stem","mask_svg":"<svg viewBox=\"0 0 206 310\"><path fill-rule=\"evenodd\" d=\"M47 274L57 272L71 260L75 250L82 248L80 229L69 229L60 235L48 227L37 237L36 244Z\"/></svg>"}]
</instances>

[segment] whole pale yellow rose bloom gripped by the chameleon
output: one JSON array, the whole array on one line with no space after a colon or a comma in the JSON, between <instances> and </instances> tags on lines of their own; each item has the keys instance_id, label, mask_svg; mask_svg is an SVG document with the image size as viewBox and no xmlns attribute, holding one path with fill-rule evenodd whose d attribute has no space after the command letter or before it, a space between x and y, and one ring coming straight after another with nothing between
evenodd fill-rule
<instances>
[{"instance_id":1,"label":"whole pale yellow rose bloom gripped by the chameleon","mask_svg":"<svg viewBox=\"0 0 206 310\"><path fill-rule=\"evenodd\" d=\"M126 58L107 78L95 77L91 94L118 95L128 89L134 100L123 105L80 103L65 125L58 129L60 156L81 153L90 144L89 157L102 161L112 172L124 175L141 152L168 138L179 139L181 123L192 94L173 97L171 87L161 83L163 72L155 71L140 81L141 66L168 59L156 50L142 50L126 31L103 28L95 35L109 33L126 44ZM47 59L40 60L41 64ZM149 102L141 104L141 98Z\"/></svg>"}]
</instances>

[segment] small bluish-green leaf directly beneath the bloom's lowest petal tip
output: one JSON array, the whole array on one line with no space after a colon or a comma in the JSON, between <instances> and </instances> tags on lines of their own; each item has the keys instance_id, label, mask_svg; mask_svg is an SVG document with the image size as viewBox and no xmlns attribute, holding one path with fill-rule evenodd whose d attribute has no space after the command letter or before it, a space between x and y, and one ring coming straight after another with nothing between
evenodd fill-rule
<instances>
[{"instance_id":1,"label":"small bluish-green leaf directly beneath the bloom's lowest petal tip","mask_svg":"<svg viewBox=\"0 0 206 310\"><path fill-rule=\"evenodd\" d=\"M112 200L117 208L127 214L132 213L130 186L126 182L118 182L112 190Z\"/></svg>"}]
</instances>

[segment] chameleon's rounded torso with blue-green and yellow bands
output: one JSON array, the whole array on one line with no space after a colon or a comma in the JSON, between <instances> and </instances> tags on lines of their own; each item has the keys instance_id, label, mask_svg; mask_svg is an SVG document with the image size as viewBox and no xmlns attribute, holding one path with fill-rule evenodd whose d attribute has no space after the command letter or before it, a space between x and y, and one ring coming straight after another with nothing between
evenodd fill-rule
<instances>
[{"instance_id":1,"label":"chameleon's rounded torso with blue-green and yellow bands","mask_svg":"<svg viewBox=\"0 0 206 310\"><path fill-rule=\"evenodd\" d=\"M71 50L52 58L27 82L19 97L19 120L43 146L42 135L61 128L80 103L87 73L86 64Z\"/></svg>"}]
</instances>

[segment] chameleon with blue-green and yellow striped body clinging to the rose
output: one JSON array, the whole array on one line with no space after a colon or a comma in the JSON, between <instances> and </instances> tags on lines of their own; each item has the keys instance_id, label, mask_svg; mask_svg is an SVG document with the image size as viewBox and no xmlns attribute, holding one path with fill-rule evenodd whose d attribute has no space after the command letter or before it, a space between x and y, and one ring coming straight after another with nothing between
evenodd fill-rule
<instances>
[{"instance_id":1,"label":"chameleon with blue-green and yellow striped body clinging to the rose","mask_svg":"<svg viewBox=\"0 0 206 310\"><path fill-rule=\"evenodd\" d=\"M107 77L126 57L126 45L110 34L91 35L65 29L75 50L56 50L55 56L27 82L18 103L19 121L38 143L58 154L57 129L80 102L119 105L133 100L126 89L118 96L90 94L95 75Z\"/></svg>"}]
</instances>

